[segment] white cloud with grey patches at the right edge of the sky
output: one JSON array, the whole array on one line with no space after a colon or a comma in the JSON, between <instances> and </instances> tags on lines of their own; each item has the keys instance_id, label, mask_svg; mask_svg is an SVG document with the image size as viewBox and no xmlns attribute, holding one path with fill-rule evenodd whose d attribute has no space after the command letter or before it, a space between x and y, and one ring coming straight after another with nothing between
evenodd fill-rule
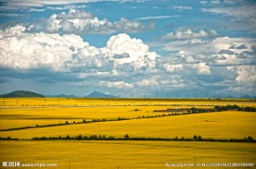
<instances>
[{"instance_id":1,"label":"white cloud with grey patches at the right edge of the sky","mask_svg":"<svg viewBox=\"0 0 256 169\"><path fill-rule=\"evenodd\" d=\"M255 46L256 41L251 38L219 37L200 43L169 42L164 49L179 51L186 63L199 61L211 66L238 66L255 64Z\"/></svg>"}]
</instances>

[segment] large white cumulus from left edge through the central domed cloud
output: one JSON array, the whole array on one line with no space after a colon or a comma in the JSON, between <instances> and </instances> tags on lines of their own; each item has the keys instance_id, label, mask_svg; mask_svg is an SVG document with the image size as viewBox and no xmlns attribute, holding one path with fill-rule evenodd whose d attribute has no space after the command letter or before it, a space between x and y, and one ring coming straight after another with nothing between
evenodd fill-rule
<instances>
[{"instance_id":1,"label":"large white cumulus from left edge through the central domed cloud","mask_svg":"<svg viewBox=\"0 0 256 169\"><path fill-rule=\"evenodd\" d=\"M124 33L111 36L106 47L96 48L79 35L33 33L19 25L0 31L0 54L2 67L80 73L77 78L147 73L160 57L140 39Z\"/></svg>"}]
</instances>

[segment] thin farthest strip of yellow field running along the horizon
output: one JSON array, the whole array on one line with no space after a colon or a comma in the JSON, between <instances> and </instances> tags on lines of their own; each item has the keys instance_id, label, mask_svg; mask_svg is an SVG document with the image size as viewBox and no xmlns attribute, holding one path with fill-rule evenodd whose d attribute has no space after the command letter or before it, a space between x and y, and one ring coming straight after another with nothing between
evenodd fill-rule
<instances>
[{"instance_id":1,"label":"thin farthest strip of yellow field running along the horizon","mask_svg":"<svg viewBox=\"0 0 256 169\"><path fill-rule=\"evenodd\" d=\"M91 98L0 98L1 107L26 107L26 106L78 106L78 105L226 105L255 104L248 99L91 99Z\"/></svg>"}]
</instances>

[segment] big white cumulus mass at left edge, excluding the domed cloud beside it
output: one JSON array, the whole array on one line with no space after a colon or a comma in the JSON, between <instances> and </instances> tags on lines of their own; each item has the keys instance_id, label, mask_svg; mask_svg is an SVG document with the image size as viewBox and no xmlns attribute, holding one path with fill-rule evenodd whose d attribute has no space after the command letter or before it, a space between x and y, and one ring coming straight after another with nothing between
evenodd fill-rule
<instances>
[{"instance_id":1,"label":"big white cumulus mass at left edge, excluding the domed cloud beside it","mask_svg":"<svg viewBox=\"0 0 256 169\"><path fill-rule=\"evenodd\" d=\"M76 35L26 33L23 26L0 31L0 66L10 68L44 68L60 71L71 59L70 47L88 47L88 42Z\"/></svg>"}]
</instances>

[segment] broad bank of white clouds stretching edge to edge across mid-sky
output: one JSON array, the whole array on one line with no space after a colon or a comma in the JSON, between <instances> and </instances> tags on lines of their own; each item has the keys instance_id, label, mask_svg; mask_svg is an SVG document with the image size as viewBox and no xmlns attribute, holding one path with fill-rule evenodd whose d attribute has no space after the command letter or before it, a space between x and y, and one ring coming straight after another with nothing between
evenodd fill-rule
<instances>
[{"instance_id":1,"label":"broad bank of white clouds stretching edge to edge across mid-sky","mask_svg":"<svg viewBox=\"0 0 256 169\"><path fill-rule=\"evenodd\" d=\"M38 74L40 79L62 74L66 85L94 84L116 90L175 91L200 86L241 92L255 88L256 74L251 71L256 64L254 39L187 39L193 37L166 43L164 50L178 52L160 56L125 33L111 36L105 47L97 48L79 35L29 32L17 25L0 31L0 67L30 70L29 74ZM45 77L35 73L42 70L48 72Z\"/></svg>"}]
</instances>

